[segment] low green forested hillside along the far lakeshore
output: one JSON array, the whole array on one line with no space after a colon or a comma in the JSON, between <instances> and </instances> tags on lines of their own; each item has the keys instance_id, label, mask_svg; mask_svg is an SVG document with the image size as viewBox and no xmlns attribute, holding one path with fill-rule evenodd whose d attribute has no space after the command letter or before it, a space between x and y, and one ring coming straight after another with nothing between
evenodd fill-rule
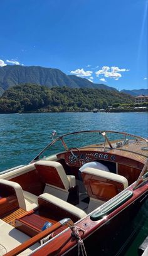
<instances>
[{"instance_id":1,"label":"low green forested hillside along the far lakeshore","mask_svg":"<svg viewBox=\"0 0 148 256\"><path fill-rule=\"evenodd\" d=\"M46 109L49 112L105 109L108 105L132 103L125 93L91 88L52 87L26 83L11 87L0 98L0 113L29 112Z\"/></svg>"}]
</instances>

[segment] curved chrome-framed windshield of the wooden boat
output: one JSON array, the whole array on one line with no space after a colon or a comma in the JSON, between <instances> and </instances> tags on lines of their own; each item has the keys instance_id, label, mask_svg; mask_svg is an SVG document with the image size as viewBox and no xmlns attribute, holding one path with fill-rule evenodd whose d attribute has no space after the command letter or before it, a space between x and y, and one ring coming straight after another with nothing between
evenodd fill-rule
<instances>
[{"instance_id":1,"label":"curved chrome-framed windshield of the wooden boat","mask_svg":"<svg viewBox=\"0 0 148 256\"><path fill-rule=\"evenodd\" d=\"M38 154L33 160L43 159L45 157L51 156L52 154L58 154L63 151L68 151L69 149L76 148L102 148L102 149L122 149L129 150L128 145L133 145L133 152L141 154L142 156L147 156L147 140L134 136L132 134L127 134L125 132L112 132L112 131L82 131L73 132L70 134L65 134L58 137L52 141L43 151ZM140 146L135 147L135 145Z\"/></svg>"}]
</instances>

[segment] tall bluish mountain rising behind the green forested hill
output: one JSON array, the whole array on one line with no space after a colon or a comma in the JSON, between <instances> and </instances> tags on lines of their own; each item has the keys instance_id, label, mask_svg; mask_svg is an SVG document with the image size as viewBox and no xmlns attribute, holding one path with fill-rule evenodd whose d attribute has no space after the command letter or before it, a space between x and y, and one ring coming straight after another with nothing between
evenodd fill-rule
<instances>
[{"instance_id":1,"label":"tall bluish mountain rising behind the green forested hill","mask_svg":"<svg viewBox=\"0 0 148 256\"><path fill-rule=\"evenodd\" d=\"M38 66L24 67L19 65L0 67L0 95L9 87L23 83L45 85L49 88L68 86L70 88L87 87L116 90L107 85L92 83L86 78L66 75L56 68L43 68Z\"/></svg>"}]
</instances>

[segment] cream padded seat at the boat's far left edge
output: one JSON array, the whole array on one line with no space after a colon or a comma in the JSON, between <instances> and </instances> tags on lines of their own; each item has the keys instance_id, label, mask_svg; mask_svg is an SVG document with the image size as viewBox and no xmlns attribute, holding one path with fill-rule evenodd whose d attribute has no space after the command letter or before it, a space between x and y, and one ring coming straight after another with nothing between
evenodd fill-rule
<instances>
[{"instance_id":1,"label":"cream padded seat at the boat's far left edge","mask_svg":"<svg viewBox=\"0 0 148 256\"><path fill-rule=\"evenodd\" d=\"M3 184L5 186L5 189L7 188L7 186L14 189L16 197L18 198L18 204L20 208L26 211L30 211L38 206L38 196L33 195L28 191L23 191L18 183L14 181L8 181L6 179L0 179L0 184Z\"/></svg>"}]
</instances>

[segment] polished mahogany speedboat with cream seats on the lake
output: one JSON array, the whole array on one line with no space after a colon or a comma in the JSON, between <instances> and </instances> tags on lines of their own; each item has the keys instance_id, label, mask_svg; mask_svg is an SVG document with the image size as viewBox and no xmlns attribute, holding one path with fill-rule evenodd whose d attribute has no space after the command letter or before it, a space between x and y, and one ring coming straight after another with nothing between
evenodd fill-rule
<instances>
[{"instance_id":1,"label":"polished mahogany speedboat with cream seats on the lake","mask_svg":"<svg viewBox=\"0 0 148 256\"><path fill-rule=\"evenodd\" d=\"M125 132L73 132L1 173L0 255L125 255L147 221L147 146Z\"/></svg>"}]
</instances>

